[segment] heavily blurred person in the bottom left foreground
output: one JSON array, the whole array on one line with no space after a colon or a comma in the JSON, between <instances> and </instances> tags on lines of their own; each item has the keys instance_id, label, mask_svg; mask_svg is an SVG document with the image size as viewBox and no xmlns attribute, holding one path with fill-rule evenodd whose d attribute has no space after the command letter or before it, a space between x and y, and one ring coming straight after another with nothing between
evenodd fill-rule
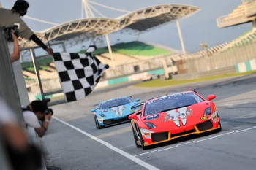
<instances>
[{"instance_id":1,"label":"heavily blurred person in the bottom left foreground","mask_svg":"<svg viewBox=\"0 0 256 170\"><path fill-rule=\"evenodd\" d=\"M1 98L0 94L0 147L3 147L6 161L1 163L12 170L34 170L42 168L42 153L39 147L31 143L26 129L18 122L15 112ZM0 169L3 164L0 163ZM9 167L10 166L10 167Z\"/></svg>"}]
</instances>

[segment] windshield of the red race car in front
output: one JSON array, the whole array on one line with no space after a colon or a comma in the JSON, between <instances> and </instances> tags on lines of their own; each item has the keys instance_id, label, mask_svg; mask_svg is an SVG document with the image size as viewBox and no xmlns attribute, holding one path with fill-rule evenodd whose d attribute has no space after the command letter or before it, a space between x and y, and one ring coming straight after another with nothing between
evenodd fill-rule
<instances>
[{"instance_id":1,"label":"windshield of the red race car in front","mask_svg":"<svg viewBox=\"0 0 256 170\"><path fill-rule=\"evenodd\" d=\"M190 106L202 101L203 99L195 93L178 93L173 96L165 96L155 101L148 102L144 109L144 116Z\"/></svg>"}]
</instances>

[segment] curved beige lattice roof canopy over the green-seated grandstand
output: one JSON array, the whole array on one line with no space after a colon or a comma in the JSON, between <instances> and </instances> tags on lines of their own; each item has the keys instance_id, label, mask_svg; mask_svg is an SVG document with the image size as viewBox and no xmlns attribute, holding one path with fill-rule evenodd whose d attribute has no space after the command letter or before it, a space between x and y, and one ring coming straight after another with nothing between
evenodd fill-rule
<instances>
[{"instance_id":1,"label":"curved beige lattice roof canopy over the green-seated grandstand","mask_svg":"<svg viewBox=\"0 0 256 170\"><path fill-rule=\"evenodd\" d=\"M53 28L37 32L42 42L63 41L83 35L85 39L104 36L116 31L136 33L150 31L167 23L189 17L199 11L199 7L186 4L161 4L139 9L118 18L84 18L72 20ZM37 46L32 41L19 39L20 47Z\"/></svg>"}]
</instances>

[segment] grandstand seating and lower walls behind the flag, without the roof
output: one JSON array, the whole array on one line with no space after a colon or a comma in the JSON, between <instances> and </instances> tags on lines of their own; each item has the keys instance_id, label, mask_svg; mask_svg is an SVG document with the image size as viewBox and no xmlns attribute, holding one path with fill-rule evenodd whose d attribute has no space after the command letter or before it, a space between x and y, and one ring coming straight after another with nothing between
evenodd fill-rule
<instances>
[{"instance_id":1,"label":"grandstand seating and lower walls behind the flag, without the roof","mask_svg":"<svg viewBox=\"0 0 256 170\"><path fill-rule=\"evenodd\" d=\"M162 69L165 61L167 66L173 66L173 56L178 54L177 50L169 49L167 47L156 47L144 42L126 42L119 43L112 46L113 61L115 62L115 69L108 69L101 81L108 81L109 84L116 84L121 81L140 80L141 77L147 74L164 74ZM82 50L79 53L86 53ZM113 68L108 47L98 48L94 51L94 55L102 63L110 65ZM37 74L34 69L32 61L21 63L23 68L23 75L26 80L26 87L29 89L29 98L35 99L39 96L37 83ZM40 56L37 59L37 66L39 70L39 77L42 81L42 88L45 93L56 89L61 89L59 77L53 62L53 58ZM177 71L176 68L171 69L173 73ZM122 78L134 74L132 78ZM101 82L99 82L101 84ZM100 85L99 85L100 87Z\"/></svg>"}]
</instances>

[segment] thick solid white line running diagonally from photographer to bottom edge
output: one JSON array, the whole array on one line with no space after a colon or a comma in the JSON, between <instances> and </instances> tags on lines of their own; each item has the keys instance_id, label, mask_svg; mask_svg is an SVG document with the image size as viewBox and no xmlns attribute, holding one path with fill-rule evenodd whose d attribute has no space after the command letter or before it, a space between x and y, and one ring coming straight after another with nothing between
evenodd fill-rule
<instances>
[{"instance_id":1,"label":"thick solid white line running diagonally from photographer to bottom edge","mask_svg":"<svg viewBox=\"0 0 256 170\"><path fill-rule=\"evenodd\" d=\"M117 147L114 147L112 144L110 144L110 143L108 143L108 142L105 142L105 141L103 141L102 139L99 139L99 138L97 138L97 137L95 137L95 136L93 136L93 135L91 135L91 134L88 134L86 131L82 131L80 128L77 128L77 127L75 127L74 125L70 125L69 123L64 122L63 120L60 120L60 119L57 118L57 117L54 117L54 116L53 116L53 118L54 118L55 120L58 120L59 122L65 124L65 125L69 126L70 128L73 128L73 129L75 129L76 131L79 131L81 134L84 134L84 135L86 135L86 136L89 136L91 139L94 139L95 141L97 141L97 142L99 142L99 143L101 143L101 144L104 144L106 147L110 148L110 150L113 150L113 151L115 151L115 152L118 152L119 154L123 155L124 157L128 158L129 160L134 161L135 163L138 163L138 165L143 166L143 167L145 167L146 169L154 169L154 170L157 170L157 167L151 166L150 164L148 164L148 163L146 163L146 162L140 160L139 158L136 158L135 156L130 155L129 153L124 152L123 150L120 150L120 149L118 149Z\"/></svg>"}]
</instances>

